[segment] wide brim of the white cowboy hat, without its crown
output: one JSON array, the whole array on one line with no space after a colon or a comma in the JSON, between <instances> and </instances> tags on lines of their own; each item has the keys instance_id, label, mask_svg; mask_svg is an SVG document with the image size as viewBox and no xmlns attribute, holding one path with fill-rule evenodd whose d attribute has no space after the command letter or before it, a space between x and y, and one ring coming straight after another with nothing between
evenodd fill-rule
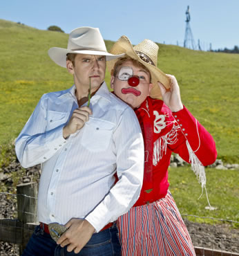
<instances>
[{"instance_id":1,"label":"wide brim of the white cowboy hat, without its crown","mask_svg":"<svg viewBox=\"0 0 239 256\"><path fill-rule=\"evenodd\" d=\"M57 65L66 68L66 55L68 53L79 53L79 54L88 54L88 55L102 55L106 56L106 61L108 60L115 60L119 57L123 57L124 53L119 55L113 55L111 53L106 53L104 51L91 51L91 50L79 50L79 51L72 51L65 48L59 47L52 47L48 50L48 55L50 58L55 62Z\"/></svg>"}]
</instances>

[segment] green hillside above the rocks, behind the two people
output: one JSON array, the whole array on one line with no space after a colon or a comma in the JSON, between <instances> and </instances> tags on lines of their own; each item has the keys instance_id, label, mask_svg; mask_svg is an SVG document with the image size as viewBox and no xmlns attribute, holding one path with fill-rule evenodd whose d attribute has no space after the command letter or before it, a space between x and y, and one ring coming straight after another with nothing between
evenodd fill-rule
<instances>
[{"instance_id":1,"label":"green hillside above the rocks, behind the two people","mask_svg":"<svg viewBox=\"0 0 239 256\"><path fill-rule=\"evenodd\" d=\"M68 35L0 19L0 144L17 137L43 93L70 87L73 78L48 49L66 48ZM106 41L108 50L113 42ZM182 102L216 140L218 158L238 162L239 55L160 44L158 66L175 75ZM109 74L106 82L109 84Z\"/></svg>"}]
</instances>

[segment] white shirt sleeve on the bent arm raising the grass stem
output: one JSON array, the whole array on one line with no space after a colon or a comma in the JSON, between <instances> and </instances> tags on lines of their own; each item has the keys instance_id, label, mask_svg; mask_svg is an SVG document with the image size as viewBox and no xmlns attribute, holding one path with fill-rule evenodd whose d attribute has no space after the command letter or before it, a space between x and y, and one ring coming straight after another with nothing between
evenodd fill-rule
<instances>
[{"instance_id":1,"label":"white shirt sleeve on the bent arm raising the grass stem","mask_svg":"<svg viewBox=\"0 0 239 256\"><path fill-rule=\"evenodd\" d=\"M15 142L17 158L25 168L44 163L66 143L62 134L64 124L46 131L46 102L43 95Z\"/></svg>"}]
</instances>

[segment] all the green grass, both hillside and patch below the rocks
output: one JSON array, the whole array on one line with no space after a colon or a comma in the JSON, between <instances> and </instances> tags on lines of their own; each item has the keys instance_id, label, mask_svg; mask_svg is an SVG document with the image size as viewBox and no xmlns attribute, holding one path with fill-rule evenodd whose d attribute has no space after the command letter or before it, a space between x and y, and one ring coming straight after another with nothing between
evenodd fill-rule
<instances>
[{"instance_id":1,"label":"all the green grass, both hillside and patch below the rocks","mask_svg":"<svg viewBox=\"0 0 239 256\"><path fill-rule=\"evenodd\" d=\"M68 35L37 30L0 19L0 169L11 161L14 140L40 97L68 89L73 77L57 66L47 51L66 48ZM108 50L114 42L106 41ZM162 45L158 66L177 77L182 102L216 140L218 158L238 163L239 55L191 51ZM110 76L107 71L106 82ZM209 201L217 210L205 210L207 199L189 167L169 170L170 190L182 214L239 221L238 171L207 169ZM15 184L19 179L15 174Z\"/></svg>"}]
</instances>

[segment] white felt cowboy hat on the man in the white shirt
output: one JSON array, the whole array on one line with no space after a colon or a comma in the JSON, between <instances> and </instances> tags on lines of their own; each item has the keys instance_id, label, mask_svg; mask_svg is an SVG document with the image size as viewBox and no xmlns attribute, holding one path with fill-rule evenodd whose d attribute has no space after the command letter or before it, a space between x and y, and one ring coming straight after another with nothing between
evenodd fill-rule
<instances>
[{"instance_id":1,"label":"white felt cowboy hat on the man in the white shirt","mask_svg":"<svg viewBox=\"0 0 239 256\"><path fill-rule=\"evenodd\" d=\"M66 54L81 53L89 55L104 55L106 60L122 57L124 54L108 53L99 28L81 27L70 32L67 49L52 47L48 50L50 58L59 66L66 68Z\"/></svg>"}]
</instances>

